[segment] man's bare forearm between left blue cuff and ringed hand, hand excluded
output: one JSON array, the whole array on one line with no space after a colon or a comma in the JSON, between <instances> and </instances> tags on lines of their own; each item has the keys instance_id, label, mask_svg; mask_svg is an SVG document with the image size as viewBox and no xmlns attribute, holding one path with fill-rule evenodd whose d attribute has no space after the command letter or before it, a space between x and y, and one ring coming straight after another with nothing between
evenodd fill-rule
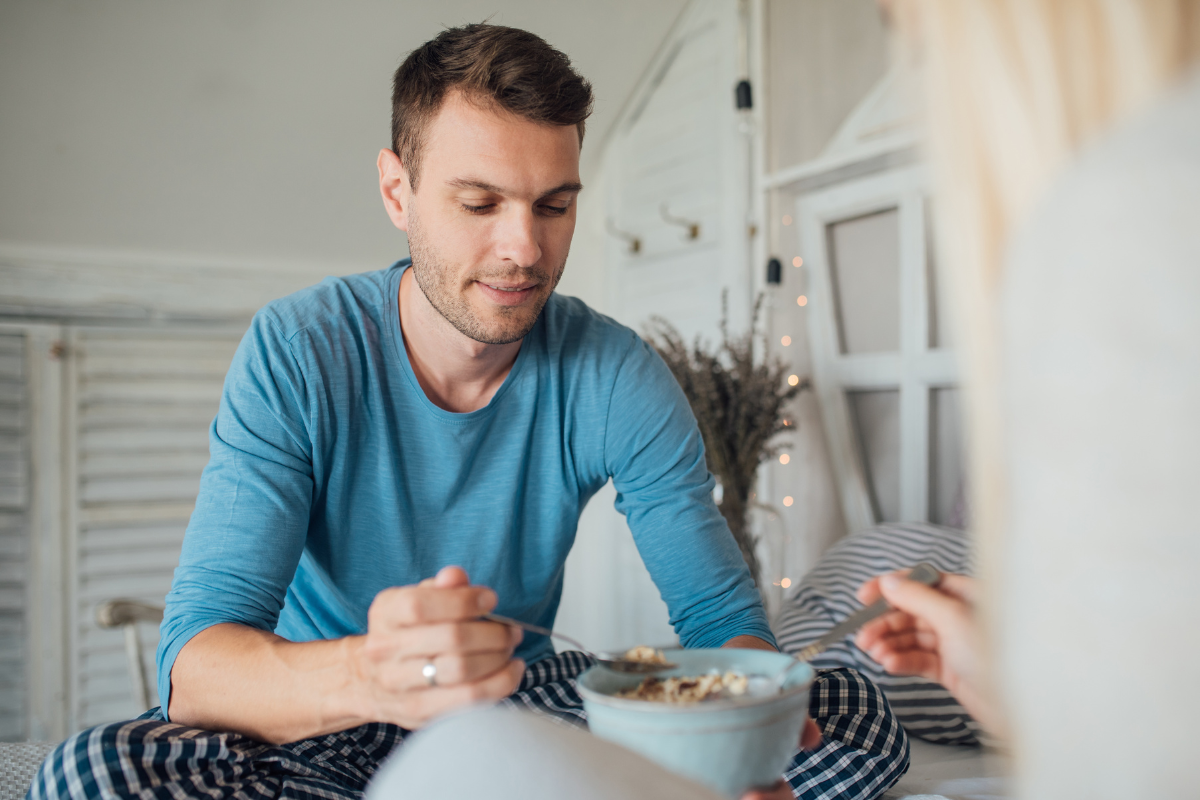
<instances>
[{"instance_id":1,"label":"man's bare forearm between left blue cuff and ringed hand, hand excluded","mask_svg":"<svg viewBox=\"0 0 1200 800\"><path fill-rule=\"evenodd\" d=\"M170 672L170 718L282 744L370 721L354 669L362 637L289 642L226 622L197 633Z\"/></svg>"}]
</instances>

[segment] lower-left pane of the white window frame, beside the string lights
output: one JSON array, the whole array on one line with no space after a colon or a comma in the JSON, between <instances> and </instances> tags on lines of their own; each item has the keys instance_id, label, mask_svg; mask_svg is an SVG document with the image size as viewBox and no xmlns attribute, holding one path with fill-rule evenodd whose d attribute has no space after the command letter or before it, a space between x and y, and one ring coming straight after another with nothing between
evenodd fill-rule
<instances>
[{"instance_id":1,"label":"lower-left pane of the white window frame, beside the string lights","mask_svg":"<svg viewBox=\"0 0 1200 800\"><path fill-rule=\"evenodd\" d=\"M900 391L847 392L877 522L900 518Z\"/></svg>"}]
</instances>

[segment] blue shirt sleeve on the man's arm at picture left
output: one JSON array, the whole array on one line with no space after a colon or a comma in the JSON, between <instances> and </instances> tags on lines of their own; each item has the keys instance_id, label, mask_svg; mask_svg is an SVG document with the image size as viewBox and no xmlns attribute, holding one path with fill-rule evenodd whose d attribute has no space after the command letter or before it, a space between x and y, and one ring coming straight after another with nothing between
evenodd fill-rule
<instances>
[{"instance_id":1,"label":"blue shirt sleeve on the man's arm at picture left","mask_svg":"<svg viewBox=\"0 0 1200 800\"><path fill-rule=\"evenodd\" d=\"M179 567L158 640L166 716L182 646L220 622L275 628L304 551L312 505L305 377L265 312L256 315L226 375L209 432Z\"/></svg>"}]
</instances>

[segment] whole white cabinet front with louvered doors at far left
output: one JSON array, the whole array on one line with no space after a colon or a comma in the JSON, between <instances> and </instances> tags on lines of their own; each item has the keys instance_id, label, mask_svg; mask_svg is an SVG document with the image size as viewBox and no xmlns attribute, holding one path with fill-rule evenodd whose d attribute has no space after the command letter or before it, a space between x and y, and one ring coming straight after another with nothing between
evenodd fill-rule
<instances>
[{"instance_id":1,"label":"whole white cabinet front with louvered doors at far left","mask_svg":"<svg viewBox=\"0 0 1200 800\"><path fill-rule=\"evenodd\" d=\"M0 736L130 718L120 630L161 603L241 325L0 326ZM146 674L158 632L139 631ZM151 704L157 697L151 694Z\"/></svg>"}]
</instances>

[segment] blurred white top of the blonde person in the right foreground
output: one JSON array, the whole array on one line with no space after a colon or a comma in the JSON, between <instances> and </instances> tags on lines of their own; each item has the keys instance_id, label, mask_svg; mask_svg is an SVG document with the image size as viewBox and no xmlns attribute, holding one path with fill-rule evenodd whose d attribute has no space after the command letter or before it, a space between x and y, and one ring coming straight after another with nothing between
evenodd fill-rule
<instances>
[{"instance_id":1,"label":"blurred white top of the blonde person in the right foreground","mask_svg":"<svg viewBox=\"0 0 1200 800\"><path fill-rule=\"evenodd\" d=\"M1200 80L1062 176L1009 252L1001 320L1019 796L1190 796Z\"/></svg>"}]
</instances>

